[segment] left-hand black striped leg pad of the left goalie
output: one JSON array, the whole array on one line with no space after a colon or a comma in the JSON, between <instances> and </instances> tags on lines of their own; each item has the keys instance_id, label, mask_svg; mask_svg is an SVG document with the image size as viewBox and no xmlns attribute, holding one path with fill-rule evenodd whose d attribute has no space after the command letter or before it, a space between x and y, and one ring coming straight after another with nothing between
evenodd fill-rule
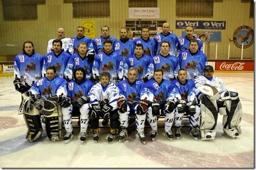
<instances>
[{"instance_id":1,"label":"left-hand black striped leg pad of the left goalie","mask_svg":"<svg viewBox=\"0 0 256 170\"><path fill-rule=\"evenodd\" d=\"M43 132L39 114L24 114L24 119L28 127L26 139L29 140L30 142L36 141L42 135Z\"/></svg>"}]
</instances>

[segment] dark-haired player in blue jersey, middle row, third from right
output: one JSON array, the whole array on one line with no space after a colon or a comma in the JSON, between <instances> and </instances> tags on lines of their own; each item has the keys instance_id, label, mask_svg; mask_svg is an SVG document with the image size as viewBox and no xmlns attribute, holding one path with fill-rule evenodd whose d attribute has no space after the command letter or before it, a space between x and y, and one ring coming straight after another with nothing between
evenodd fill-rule
<instances>
[{"instance_id":1,"label":"dark-haired player in blue jersey, middle row, third from right","mask_svg":"<svg viewBox=\"0 0 256 170\"><path fill-rule=\"evenodd\" d=\"M124 64L124 75L127 70L134 67L138 70L138 79L147 82L153 77L154 65L152 57L143 54L143 45L135 45L135 54L127 57Z\"/></svg>"}]
</instances>

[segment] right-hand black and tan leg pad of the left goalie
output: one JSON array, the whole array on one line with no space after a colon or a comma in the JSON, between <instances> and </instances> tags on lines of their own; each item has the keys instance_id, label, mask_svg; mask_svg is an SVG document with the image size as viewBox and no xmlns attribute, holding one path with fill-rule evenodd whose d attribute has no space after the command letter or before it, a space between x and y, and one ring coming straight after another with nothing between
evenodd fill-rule
<instances>
[{"instance_id":1,"label":"right-hand black and tan leg pad of the left goalie","mask_svg":"<svg viewBox=\"0 0 256 170\"><path fill-rule=\"evenodd\" d=\"M60 105L54 108L51 115L45 115L45 128L50 140L60 140L63 137L62 116Z\"/></svg>"}]
</instances>

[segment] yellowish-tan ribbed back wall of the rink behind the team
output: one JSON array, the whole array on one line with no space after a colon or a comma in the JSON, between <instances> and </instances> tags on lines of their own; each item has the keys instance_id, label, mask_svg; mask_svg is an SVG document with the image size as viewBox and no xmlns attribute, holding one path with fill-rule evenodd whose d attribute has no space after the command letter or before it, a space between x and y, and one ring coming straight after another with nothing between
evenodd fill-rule
<instances>
[{"instance_id":1,"label":"yellowish-tan ribbed back wall of the rink behind the team","mask_svg":"<svg viewBox=\"0 0 256 170\"><path fill-rule=\"evenodd\" d=\"M76 35L77 26L82 25L85 20L95 21L95 37L100 35L102 25L108 25L110 35L119 38L119 29L125 26L126 20L131 20L128 16L129 0L109 0L109 3L110 16L95 18L73 18L72 3L64 3L63 0L45 0L45 4L37 5L37 20L6 21L3 19L3 11L0 10L0 56L20 53L23 42L27 40L34 42L36 52L45 55L47 42L56 37L57 28L64 28L66 37L72 37ZM2 1L0 7L2 8ZM254 29L254 18L249 18L250 3L241 3L241 0L213 1L213 17L210 18L176 17L175 0L158 0L157 7L160 8L160 19L153 20L169 22L170 30L178 37L184 30L175 29L175 20L226 21L224 30L196 30L221 32L222 42L218 43L218 59L227 59L229 38L232 39L239 26L248 25ZM215 59L215 42L211 44L213 45L210 46L208 59ZM231 42L230 49L231 57L240 58L241 48ZM245 48L243 53L244 57L254 59L254 46Z\"/></svg>"}]
</instances>

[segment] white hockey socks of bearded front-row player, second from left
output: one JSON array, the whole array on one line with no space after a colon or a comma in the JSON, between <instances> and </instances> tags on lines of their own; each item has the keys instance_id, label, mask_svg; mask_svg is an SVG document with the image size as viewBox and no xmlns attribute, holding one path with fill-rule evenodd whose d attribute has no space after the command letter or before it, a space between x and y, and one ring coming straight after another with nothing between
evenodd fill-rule
<instances>
[{"instance_id":1,"label":"white hockey socks of bearded front-row player, second from left","mask_svg":"<svg viewBox=\"0 0 256 170\"><path fill-rule=\"evenodd\" d=\"M63 124L67 132L73 132L72 127L72 111L73 105L70 105L68 108L61 108L63 114ZM90 106L89 104L83 104L80 108L80 132L86 132L89 124L89 113Z\"/></svg>"}]
</instances>

